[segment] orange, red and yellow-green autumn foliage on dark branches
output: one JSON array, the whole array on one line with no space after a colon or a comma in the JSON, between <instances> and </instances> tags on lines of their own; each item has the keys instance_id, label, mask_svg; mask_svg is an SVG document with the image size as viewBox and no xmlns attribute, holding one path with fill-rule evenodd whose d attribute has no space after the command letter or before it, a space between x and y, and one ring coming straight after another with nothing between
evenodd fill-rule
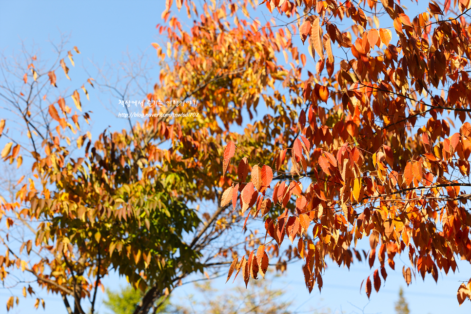
<instances>
[{"instance_id":1,"label":"orange, red and yellow-green autumn foliage on dark branches","mask_svg":"<svg viewBox=\"0 0 471 314\"><path fill-rule=\"evenodd\" d=\"M257 4L288 21L253 19ZM303 259L311 292L329 259L378 260L368 297L398 255L411 262L407 284L454 272L455 258L471 261L471 2L427 4L413 17L398 0L177 0L195 19L186 27L167 0L145 118L94 141L81 129L86 88L124 102L136 77L70 92L80 52L67 43L52 63L3 60L0 96L17 118L0 121L1 157L26 174L0 198L0 280L23 285L20 269L84 314L114 269L143 292L134 313L147 314L182 278L226 264L247 286L270 262Z\"/></svg>"}]
</instances>

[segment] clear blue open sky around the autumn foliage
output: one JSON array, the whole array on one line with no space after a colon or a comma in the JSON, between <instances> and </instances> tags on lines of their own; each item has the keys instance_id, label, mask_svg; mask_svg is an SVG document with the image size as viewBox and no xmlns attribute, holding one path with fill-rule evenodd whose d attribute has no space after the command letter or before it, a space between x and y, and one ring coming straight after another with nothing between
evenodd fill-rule
<instances>
[{"instance_id":1,"label":"clear blue open sky around the autumn foliage","mask_svg":"<svg viewBox=\"0 0 471 314\"><path fill-rule=\"evenodd\" d=\"M410 5L410 2L404 4ZM80 55L74 57L76 68L84 66L91 73L96 73L92 61L100 65L118 62L128 52L136 58L139 53L144 53L144 56L153 60L155 50L150 44L159 40L156 25L162 23L160 14L164 6L164 0L0 0L0 50L8 56L13 50L19 51L23 41L27 47L33 43L39 45L44 56L48 56L51 54L52 46L47 41L58 39L60 33L70 33L72 46L78 46L81 51ZM300 51L309 56L307 46L300 46ZM81 82L86 80L85 76L75 74L81 72L78 69L71 69L72 82L80 82L75 88L79 88ZM155 81L158 69L150 70L149 75ZM116 114L121 112L118 100L101 96L100 102L93 89L89 88L89 92L90 101L83 102L86 110L94 111L92 115L94 135L108 125L111 125L112 129L127 127L127 121L116 117ZM114 106L116 106L116 111L114 111ZM365 243L359 245L365 245ZM458 307L456 300L456 290L460 281L468 280L471 276L469 264L459 262L459 273L454 275L450 273L448 276L444 273L439 275L438 285L429 275L425 282L420 277L412 278L411 286L407 287L402 277L402 266L410 266L410 263L408 256L403 255L401 259L404 263L398 259L395 271L387 267L386 283L378 294L375 291L372 292L370 302L364 292L364 287L360 294L360 283L367 276L373 275L376 264L373 270L365 264L354 264L349 272L346 268L338 268L329 263L330 267L323 277L322 293L319 294L319 291L314 288L313 293L308 294L304 285L301 264L296 263L289 266L288 272L285 273L288 275L275 279L272 287L284 289L286 297L294 299L300 312L327 307L337 311L336 313L343 311L344 313L393 314L393 303L397 299L400 286L405 288L405 296L412 314L471 312L469 301ZM270 275L267 275L267 278L266 280L270 280ZM214 286L228 289L230 283L224 285L224 281L222 278L217 279ZM120 284L125 284L125 279L111 275L104 280L104 283L111 289L117 289ZM177 288L173 300L184 302L187 295L194 292L193 289L191 284ZM16 293L20 294L20 291ZM4 304L9 295L11 295L10 292L0 288L0 313L3 313L5 309ZM40 308L37 313L65 313L58 295L41 293L40 296L46 301L46 310ZM99 298L102 298L101 294ZM33 303L31 299L27 301L21 299L20 307L15 307L13 313L34 313ZM107 312L102 306L99 308L99 313Z\"/></svg>"}]
</instances>

